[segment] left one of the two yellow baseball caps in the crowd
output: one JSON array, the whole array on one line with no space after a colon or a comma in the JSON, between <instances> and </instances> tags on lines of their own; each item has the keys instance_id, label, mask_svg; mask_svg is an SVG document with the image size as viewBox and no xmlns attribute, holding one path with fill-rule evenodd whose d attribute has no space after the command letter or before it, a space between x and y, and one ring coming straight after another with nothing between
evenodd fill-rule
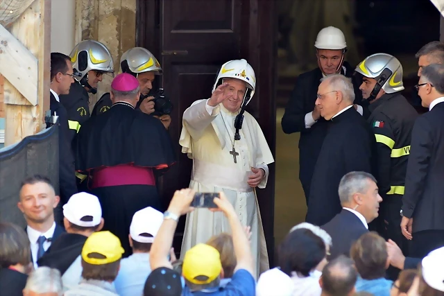
<instances>
[{"instance_id":1,"label":"left one of the two yellow baseball caps in the crowd","mask_svg":"<svg viewBox=\"0 0 444 296\"><path fill-rule=\"evenodd\" d=\"M82 248L82 259L89 264L103 265L115 262L121 259L122 254L125 252L117 236L114 236L111 232L94 232L87 238L85 245ZM91 253L98 253L105 258L90 258Z\"/></svg>"}]
</instances>

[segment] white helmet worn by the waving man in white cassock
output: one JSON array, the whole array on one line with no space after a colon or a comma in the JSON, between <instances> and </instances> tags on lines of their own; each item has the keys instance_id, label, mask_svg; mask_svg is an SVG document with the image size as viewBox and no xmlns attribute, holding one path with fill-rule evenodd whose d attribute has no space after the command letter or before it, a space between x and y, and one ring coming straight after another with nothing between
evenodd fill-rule
<instances>
[{"instance_id":1,"label":"white helmet worn by the waving man in white cassock","mask_svg":"<svg viewBox=\"0 0 444 296\"><path fill-rule=\"evenodd\" d=\"M255 94L256 76L253 67L251 67L246 60L230 60L230 62L225 62L221 70L219 70L216 82L214 82L213 92L221 85L222 78L236 78L246 82L247 88L250 89L250 98L246 103L248 104L250 102L253 94Z\"/></svg>"}]
</instances>

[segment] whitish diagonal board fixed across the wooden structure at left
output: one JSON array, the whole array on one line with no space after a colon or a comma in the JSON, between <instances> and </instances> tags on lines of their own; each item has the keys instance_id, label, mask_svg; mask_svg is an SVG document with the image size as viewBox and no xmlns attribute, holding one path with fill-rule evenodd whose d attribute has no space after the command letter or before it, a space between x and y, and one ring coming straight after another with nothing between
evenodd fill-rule
<instances>
[{"instance_id":1,"label":"whitish diagonal board fixed across the wooden structure at left","mask_svg":"<svg viewBox=\"0 0 444 296\"><path fill-rule=\"evenodd\" d=\"M0 73L32 105L37 105L37 58L0 25Z\"/></svg>"}]
</instances>

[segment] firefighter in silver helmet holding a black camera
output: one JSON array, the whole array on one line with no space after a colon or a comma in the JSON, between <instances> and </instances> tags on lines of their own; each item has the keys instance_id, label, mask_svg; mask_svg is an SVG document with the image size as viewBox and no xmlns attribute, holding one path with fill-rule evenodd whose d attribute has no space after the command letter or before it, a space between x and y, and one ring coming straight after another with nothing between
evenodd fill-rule
<instances>
[{"instance_id":1,"label":"firefighter in silver helmet holding a black camera","mask_svg":"<svg viewBox=\"0 0 444 296\"><path fill-rule=\"evenodd\" d=\"M129 73L139 81L140 98L136 109L160 119L168 129L171 123L169 114L173 110L173 104L164 96L164 89L152 92L155 76L162 74L162 68L153 53L143 47L129 49L121 56L120 67L122 73ZM108 111L111 106L110 93L103 94L94 105L92 116Z\"/></svg>"}]
</instances>

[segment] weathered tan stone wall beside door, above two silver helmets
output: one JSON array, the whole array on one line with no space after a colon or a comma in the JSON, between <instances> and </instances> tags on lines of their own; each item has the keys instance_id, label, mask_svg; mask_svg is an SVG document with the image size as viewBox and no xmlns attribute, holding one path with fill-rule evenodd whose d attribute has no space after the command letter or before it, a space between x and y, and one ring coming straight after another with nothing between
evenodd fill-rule
<instances>
[{"instance_id":1,"label":"weathered tan stone wall beside door, above two silver helmets","mask_svg":"<svg viewBox=\"0 0 444 296\"><path fill-rule=\"evenodd\" d=\"M137 0L76 0L75 43L86 39L105 44L114 59L114 71L120 71L122 53L135 46ZM112 77L103 75L96 95L89 95L89 108L108 92Z\"/></svg>"}]
</instances>

